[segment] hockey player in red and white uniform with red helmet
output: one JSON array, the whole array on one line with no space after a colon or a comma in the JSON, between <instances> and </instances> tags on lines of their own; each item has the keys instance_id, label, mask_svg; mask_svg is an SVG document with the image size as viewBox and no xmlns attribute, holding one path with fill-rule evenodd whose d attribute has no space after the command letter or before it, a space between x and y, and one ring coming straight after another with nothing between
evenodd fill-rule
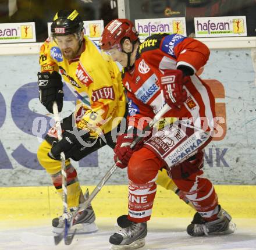
<instances>
[{"instance_id":1,"label":"hockey player in red and white uniform with red helmet","mask_svg":"<svg viewBox=\"0 0 256 250\"><path fill-rule=\"evenodd\" d=\"M116 164L128 166L129 212L118 218L122 229L110 237L112 249L145 244L157 191L155 180L162 167L197 210L187 226L188 234L233 233L231 216L219 205L211 181L202 176L203 149L215 130L215 100L196 73L207 63L209 49L179 34L155 34L140 43L133 23L127 19L112 20L100 44L124 67L123 85L135 110L127 117L133 133L119 135L114 149ZM177 117L179 121L167 123L145 138L137 151L130 149L136 134L165 103L170 110L163 118Z\"/></svg>"}]
</instances>

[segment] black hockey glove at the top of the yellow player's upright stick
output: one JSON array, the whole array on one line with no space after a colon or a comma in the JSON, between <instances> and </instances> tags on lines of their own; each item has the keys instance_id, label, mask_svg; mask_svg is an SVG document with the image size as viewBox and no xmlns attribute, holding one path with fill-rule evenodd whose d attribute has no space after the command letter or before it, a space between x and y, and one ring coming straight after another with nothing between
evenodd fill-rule
<instances>
[{"instance_id":1,"label":"black hockey glove at the top of the yellow player's upright stick","mask_svg":"<svg viewBox=\"0 0 256 250\"><path fill-rule=\"evenodd\" d=\"M37 76L40 102L50 113L53 113L52 105L56 101L58 110L61 112L63 106L63 83L61 75L54 71L52 74L50 72L38 72Z\"/></svg>"}]
</instances>

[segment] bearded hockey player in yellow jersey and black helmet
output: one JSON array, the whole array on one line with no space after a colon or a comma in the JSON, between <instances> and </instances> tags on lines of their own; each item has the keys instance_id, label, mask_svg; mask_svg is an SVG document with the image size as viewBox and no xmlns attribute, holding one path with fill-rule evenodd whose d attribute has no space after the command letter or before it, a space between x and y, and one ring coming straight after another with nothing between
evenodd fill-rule
<instances>
[{"instance_id":1,"label":"bearded hockey player in yellow jersey and black helmet","mask_svg":"<svg viewBox=\"0 0 256 250\"><path fill-rule=\"evenodd\" d=\"M107 58L107 60L106 60ZM97 45L83 32L83 21L76 10L59 10L51 25L51 39L41 46L41 72L38 88L41 103L52 113L55 101L63 106L62 78L77 97L76 110L62 121L63 139L58 141L52 127L38 148L38 160L51 175L56 190L62 193L60 153L66 156L67 205L74 213L84 196L70 159L80 160L109 145L115 147L112 130L120 124L116 117L126 117L128 110L119 67L102 56ZM81 133L81 131L83 133ZM159 184L176 191L165 170L159 172ZM88 192L87 192L88 194ZM84 233L97 231L94 210L90 206L77 222ZM52 220L54 231L63 227L63 216Z\"/></svg>"}]
</instances>

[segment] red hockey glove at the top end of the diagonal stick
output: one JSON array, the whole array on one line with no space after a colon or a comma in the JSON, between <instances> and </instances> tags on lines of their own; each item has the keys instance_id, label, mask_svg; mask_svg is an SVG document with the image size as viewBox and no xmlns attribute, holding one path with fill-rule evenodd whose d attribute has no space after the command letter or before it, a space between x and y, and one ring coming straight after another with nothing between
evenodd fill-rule
<instances>
[{"instance_id":1,"label":"red hockey glove at the top end of the diagonal stick","mask_svg":"<svg viewBox=\"0 0 256 250\"><path fill-rule=\"evenodd\" d=\"M161 88L163 97L170 107L177 108L187 99L187 92L183 90L182 70L165 70L165 75L161 77Z\"/></svg>"}]
</instances>

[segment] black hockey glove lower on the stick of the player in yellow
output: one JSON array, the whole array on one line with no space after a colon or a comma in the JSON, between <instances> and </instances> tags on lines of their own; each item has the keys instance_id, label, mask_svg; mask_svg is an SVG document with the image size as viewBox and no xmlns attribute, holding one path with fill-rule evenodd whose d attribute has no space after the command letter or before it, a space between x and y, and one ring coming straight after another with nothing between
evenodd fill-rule
<instances>
[{"instance_id":1,"label":"black hockey glove lower on the stick of the player in yellow","mask_svg":"<svg viewBox=\"0 0 256 250\"><path fill-rule=\"evenodd\" d=\"M80 144L79 140L85 142L84 145ZM52 159L60 160L61 152L64 152L66 159L72 158L76 160L72 156L76 155L77 151L83 150L84 147L90 145L91 140L90 133L84 130L78 129L75 132L72 131L72 133L64 131L62 140L52 144L52 149L51 152L48 153L48 156Z\"/></svg>"}]
</instances>

